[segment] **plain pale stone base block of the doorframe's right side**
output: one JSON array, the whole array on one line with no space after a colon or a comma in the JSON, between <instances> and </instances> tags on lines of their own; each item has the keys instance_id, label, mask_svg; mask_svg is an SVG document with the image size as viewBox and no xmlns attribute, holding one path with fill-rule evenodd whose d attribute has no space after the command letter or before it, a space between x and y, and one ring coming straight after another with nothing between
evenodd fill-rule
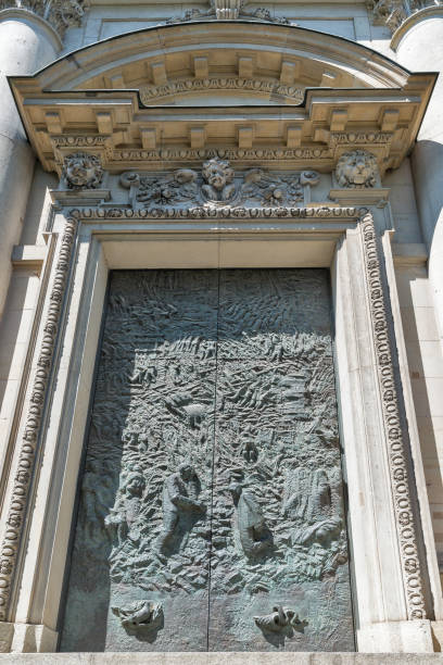
<instances>
[{"instance_id":1,"label":"plain pale stone base block of the doorframe's right side","mask_svg":"<svg viewBox=\"0 0 443 665\"><path fill-rule=\"evenodd\" d=\"M359 652L433 653L431 622L383 622L357 630Z\"/></svg>"}]
</instances>

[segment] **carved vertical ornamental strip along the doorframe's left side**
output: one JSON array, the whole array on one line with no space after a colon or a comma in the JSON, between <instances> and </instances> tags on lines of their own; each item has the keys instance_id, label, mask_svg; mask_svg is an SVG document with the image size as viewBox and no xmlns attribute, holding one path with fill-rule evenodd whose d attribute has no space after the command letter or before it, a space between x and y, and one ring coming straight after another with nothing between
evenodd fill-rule
<instances>
[{"instance_id":1,"label":"carved vertical ornamental strip along the doorframe's left side","mask_svg":"<svg viewBox=\"0 0 443 665\"><path fill-rule=\"evenodd\" d=\"M45 394L54 353L55 336L73 252L76 221L68 218L63 231L55 274L49 297L49 309L45 321L43 339L37 361L26 425L21 442L17 472L14 478L12 499L8 513L7 529L0 550L0 620L8 619L12 579L17 564L20 542L24 530L30 481L36 463L38 434L43 415Z\"/></svg>"}]
</instances>

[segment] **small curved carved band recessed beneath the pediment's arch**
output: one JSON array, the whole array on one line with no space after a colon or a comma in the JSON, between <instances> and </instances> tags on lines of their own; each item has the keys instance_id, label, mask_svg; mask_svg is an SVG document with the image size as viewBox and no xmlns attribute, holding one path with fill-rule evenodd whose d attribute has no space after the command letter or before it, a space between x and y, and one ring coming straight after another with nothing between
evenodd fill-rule
<instances>
[{"instance_id":1,"label":"small curved carved band recessed beneath the pediment's arch","mask_svg":"<svg viewBox=\"0 0 443 665\"><path fill-rule=\"evenodd\" d=\"M217 76L207 78L187 78L186 80L174 80L161 86L145 86L140 88L140 100L149 104L159 97L169 97L183 92L202 90L244 90L252 92L264 92L267 95L281 95L299 103L303 101L304 90L295 86L286 86L277 80L260 78L241 78L238 76Z\"/></svg>"}]
</instances>

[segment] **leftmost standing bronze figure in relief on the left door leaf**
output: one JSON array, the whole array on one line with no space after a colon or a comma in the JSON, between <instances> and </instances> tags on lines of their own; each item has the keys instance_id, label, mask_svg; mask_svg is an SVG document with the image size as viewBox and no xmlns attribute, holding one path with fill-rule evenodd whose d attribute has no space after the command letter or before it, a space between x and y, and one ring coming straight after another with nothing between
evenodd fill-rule
<instances>
[{"instance_id":1,"label":"leftmost standing bronze figure in relief on the left door leaf","mask_svg":"<svg viewBox=\"0 0 443 665\"><path fill-rule=\"evenodd\" d=\"M140 513L144 487L143 475L138 469L129 472L114 507L104 520L105 526L116 532L118 547L131 537L130 531ZM132 536L136 537L135 534Z\"/></svg>"}]
</instances>

